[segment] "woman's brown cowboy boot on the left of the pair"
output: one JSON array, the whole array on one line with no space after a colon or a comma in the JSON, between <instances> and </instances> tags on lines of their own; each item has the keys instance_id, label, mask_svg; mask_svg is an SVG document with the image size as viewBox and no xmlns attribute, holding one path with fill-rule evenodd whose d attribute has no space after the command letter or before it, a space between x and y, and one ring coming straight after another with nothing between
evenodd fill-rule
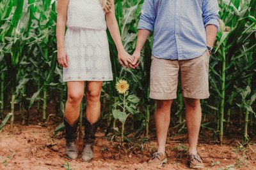
<instances>
[{"instance_id":1,"label":"woman's brown cowboy boot on the left of the pair","mask_svg":"<svg viewBox=\"0 0 256 170\"><path fill-rule=\"evenodd\" d=\"M77 127L79 124L79 119L73 125L68 124L67 119L64 118L65 124L65 139L66 139L66 155L67 159L77 159L77 147L76 147L76 138L77 138Z\"/></svg>"}]
</instances>

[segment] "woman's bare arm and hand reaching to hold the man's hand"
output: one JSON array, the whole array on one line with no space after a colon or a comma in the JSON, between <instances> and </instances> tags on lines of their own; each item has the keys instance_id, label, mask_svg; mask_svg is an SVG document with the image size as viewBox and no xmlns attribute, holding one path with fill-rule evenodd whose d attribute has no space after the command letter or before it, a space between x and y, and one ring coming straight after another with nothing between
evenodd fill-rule
<instances>
[{"instance_id":1,"label":"woman's bare arm and hand reaching to hold the man's hand","mask_svg":"<svg viewBox=\"0 0 256 170\"><path fill-rule=\"evenodd\" d=\"M127 53L122 44L122 39L120 36L120 31L118 29L118 24L115 16L115 3L111 6L111 10L106 13L106 21L108 25L109 32L115 42L116 48L118 50L118 60L122 66L128 67L128 62L132 63L133 59L129 53Z\"/></svg>"}]
</instances>

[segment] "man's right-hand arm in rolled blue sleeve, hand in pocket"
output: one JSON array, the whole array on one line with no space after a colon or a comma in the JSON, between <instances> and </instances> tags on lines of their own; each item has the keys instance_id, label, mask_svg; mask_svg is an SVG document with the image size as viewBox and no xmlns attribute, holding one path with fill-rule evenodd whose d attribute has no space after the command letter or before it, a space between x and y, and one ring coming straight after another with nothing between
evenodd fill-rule
<instances>
[{"instance_id":1,"label":"man's right-hand arm in rolled blue sleeve, hand in pocket","mask_svg":"<svg viewBox=\"0 0 256 170\"><path fill-rule=\"evenodd\" d=\"M217 0L205 0L203 4L203 18L206 31L206 45L214 45L219 29L219 4Z\"/></svg>"}]
</instances>

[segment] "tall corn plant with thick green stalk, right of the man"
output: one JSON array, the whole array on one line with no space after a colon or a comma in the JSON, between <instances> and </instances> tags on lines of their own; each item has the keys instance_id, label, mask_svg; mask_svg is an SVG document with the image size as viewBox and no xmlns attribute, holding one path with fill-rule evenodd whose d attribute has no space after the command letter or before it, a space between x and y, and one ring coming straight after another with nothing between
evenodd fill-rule
<instances>
[{"instance_id":1,"label":"tall corn plant with thick green stalk, right of the man","mask_svg":"<svg viewBox=\"0 0 256 170\"><path fill-rule=\"evenodd\" d=\"M230 24L230 26L234 27L231 28L231 30L227 29L225 25L223 25L223 29L218 32L217 36L217 47L215 49L216 55L218 55L218 60L220 63L214 63L216 64L214 67L217 67L218 65L221 66L221 69L214 69L211 66L211 71L214 73L217 78L214 80L215 82L211 82L211 85L214 86L214 89L216 90L216 93L220 97L220 143L223 141L223 122L225 122L224 114L225 114L225 105L227 104L227 89L234 89L233 83L234 83L234 76L227 76L232 75L232 72L236 71L236 67L234 67L234 64L237 62L237 59L244 57L246 53L255 51L256 44L252 43L246 43L250 41L250 38L254 37L255 34L255 22L253 23L251 12L249 9L252 9L250 7L255 6L255 1L248 2L248 6L244 6L244 9L241 9L240 11L237 9L237 6L239 7L239 1L234 1L233 4L231 1L222 1L221 5L224 6L221 17L227 17L228 13L234 13L236 17L234 17L234 20L230 21L230 18L222 18L223 20L227 19L227 24ZM231 10L230 10L231 8ZM255 12L255 11L253 11ZM255 15L254 15L255 16ZM234 41L236 39L236 41ZM246 50L241 51L241 48L246 48ZM221 70L220 73L217 72L217 70ZM230 73L230 74L227 74ZM241 73L237 73L236 75L239 75ZM218 89L218 86L216 86L216 81L218 78L220 81L221 89ZM228 94L229 97L232 96Z\"/></svg>"}]
</instances>

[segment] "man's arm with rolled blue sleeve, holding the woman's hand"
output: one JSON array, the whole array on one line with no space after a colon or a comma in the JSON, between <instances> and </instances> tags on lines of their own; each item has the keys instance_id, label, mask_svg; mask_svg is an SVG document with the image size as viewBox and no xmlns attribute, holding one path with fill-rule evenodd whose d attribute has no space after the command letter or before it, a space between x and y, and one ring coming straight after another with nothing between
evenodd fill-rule
<instances>
[{"instance_id":1,"label":"man's arm with rolled blue sleeve, holding the woman's hand","mask_svg":"<svg viewBox=\"0 0 256 170\"><path fill-rule=\"evenodd\" d=\"M134 58L134 62L130 64L130 67L136 68L139 63L140 53L147 41L147 38L150 32L154 29L154 25L156 22L156 13L154 9L154 1L153 0L145 0L142 10L141 17L138 25L138 40L136 44L136 49L132 55Z\"/></svg>"}]
</instances>

